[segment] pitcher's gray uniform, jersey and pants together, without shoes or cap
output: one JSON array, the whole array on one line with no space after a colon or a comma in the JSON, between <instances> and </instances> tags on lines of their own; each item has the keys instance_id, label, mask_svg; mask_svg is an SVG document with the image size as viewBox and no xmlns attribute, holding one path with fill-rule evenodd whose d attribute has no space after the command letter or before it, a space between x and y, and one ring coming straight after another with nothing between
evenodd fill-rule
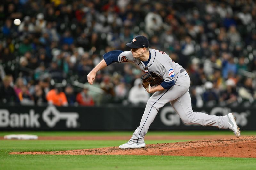
<instances>
[{"instance_id":1,"label":"pitcher's gray uniform, jersey and pants together, without shoes or cap","mask_svg":"<svg viewBox=\"0 0 256 170\"><path fill-rule=\"evenodd\" d=\"M168 90L155 92L147 102L140 126L134 131L131 140L133 142L144 142L150 124L156 117L158 110L164 104L170 102L185 124L200 124L203 126L215 126L228 129L227 116L215 116L205 113L193 112L191 98L188 92L190 78L187 72L171 60L169 55L162 51L149 49L151 58L145 66L139 58L133 58L131 51L124 51L118 56L119 62L132 62L144 72L154 71L161 75L164 81L175 80L175 85Z\"/></svg>"}]
</instances>

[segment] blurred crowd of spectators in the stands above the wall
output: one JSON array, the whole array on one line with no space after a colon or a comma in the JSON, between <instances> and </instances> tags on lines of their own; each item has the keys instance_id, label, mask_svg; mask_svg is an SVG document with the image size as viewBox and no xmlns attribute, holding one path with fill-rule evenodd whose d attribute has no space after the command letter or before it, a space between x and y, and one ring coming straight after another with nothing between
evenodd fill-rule
<instances>
[{"instance_id":1,"label":"blurred crowd of spectators in the stands above the wall","mask_svg":"<svg viewBox=\"0 0 256 170\"><path fill-rule=\"evenodd\" d=\"M20 25L14 25L20 19ZM140 34L191 78L192 105L255 105L253 0L5 0L0 4L0 103L145 104L129 63L87 74Z\"/></svg>"}]
</instances>

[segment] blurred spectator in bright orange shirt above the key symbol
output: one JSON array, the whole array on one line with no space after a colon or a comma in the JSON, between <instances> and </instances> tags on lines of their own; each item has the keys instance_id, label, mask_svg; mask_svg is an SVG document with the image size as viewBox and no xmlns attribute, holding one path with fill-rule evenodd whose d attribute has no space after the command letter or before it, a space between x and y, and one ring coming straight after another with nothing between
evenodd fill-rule
<instances>
[{"instance_id":1,"label":"blurred spectator in bright orange shirt above the key symbol","mask_svg":"<svg viewBox=\"0 0 256 170\"><path fill-rule=\"evenodd\" d=\"M62 90L61 87L50 90L46 95L48 103L56 106L68 106L66 95Z\"/></svg>"}]
</instances>

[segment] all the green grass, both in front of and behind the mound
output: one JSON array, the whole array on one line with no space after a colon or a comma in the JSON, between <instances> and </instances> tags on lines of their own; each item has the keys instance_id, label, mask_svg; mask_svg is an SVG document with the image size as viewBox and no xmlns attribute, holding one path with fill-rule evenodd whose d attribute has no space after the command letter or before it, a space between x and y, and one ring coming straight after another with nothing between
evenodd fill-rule
<instances>
[{"instance_id":1,"label":"all the green grass, both in front of and behind the mound","mask_svg":"<svg viewBox=\"0 0 256 170\"><path fill-rule=\"evenodd\" d=\"M18 132L15 132L16 134ZM21 132L40 136L81 135L131 135L132 132ZM10 132L0 132L0 136ZM12 132L13 134L13 132ZM147 135L214 135L230 134L229 131L212 132L150 132ZM256 135L255 131L244 135ZM256 169L255 158L217 158L183 156L96 156L96 155L9 155L19 151L57 151L70 149L118 146L124 140L0 140L0 169L195 169L195 170L244 170ZM147 144L176 142L173 140L147 140Z\"/></svg>"}]
</instances>

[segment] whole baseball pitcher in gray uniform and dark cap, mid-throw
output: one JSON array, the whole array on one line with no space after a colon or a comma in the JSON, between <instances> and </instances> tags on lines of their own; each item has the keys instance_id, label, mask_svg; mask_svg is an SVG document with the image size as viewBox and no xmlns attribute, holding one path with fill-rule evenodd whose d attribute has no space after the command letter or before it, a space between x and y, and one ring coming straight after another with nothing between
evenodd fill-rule
<instances>
[{"instance_id":1,"label":"whole baseball pitcher in gray uniform and dark cap, mid-throw","mask_svg":"<svg viewBox=\"0 0 256 170\"><path fill-rule=\"evenodd\" d=\"M147 102L140 126L134 131L131 139L119 146L120 149L142 148L146 144L144 137L158 110L167 102L180 116L185 124L200 124L231 129L236 137L240 130L232 113L226 116L208 115L193 112L188 92L190 78L184 68L171 60L163 51L150 49L148 39L138 35L126 44L131 51L114 50L103 55L103 60L87 75L88 82L93 84L96 73L113 62L131 62L145 72L142 76L143 87L148 93L154 93Z\"/></svg>"}]
</instances>

